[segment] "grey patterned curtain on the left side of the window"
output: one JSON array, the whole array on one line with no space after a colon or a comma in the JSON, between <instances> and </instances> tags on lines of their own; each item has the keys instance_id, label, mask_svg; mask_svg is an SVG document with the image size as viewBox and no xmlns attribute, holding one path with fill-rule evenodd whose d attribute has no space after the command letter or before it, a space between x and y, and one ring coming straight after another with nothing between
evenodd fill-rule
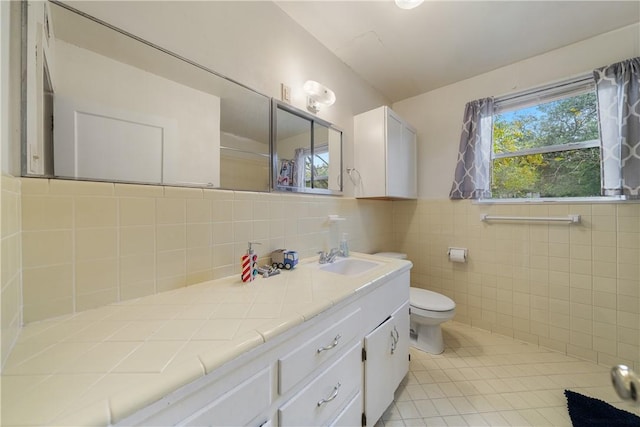
<instances>
[{"instance_id":1,"label":"grey patterned curtain on the left side of the window","mask_svg":"<svg viewBox=\"0 0 640 427\"><path fill-rule=\"evenodd\" d=\"M458 163L449 198L482 199L491 196L491 140L493 98L478 99L464 110Z\"/></svg>"}]
</instances>

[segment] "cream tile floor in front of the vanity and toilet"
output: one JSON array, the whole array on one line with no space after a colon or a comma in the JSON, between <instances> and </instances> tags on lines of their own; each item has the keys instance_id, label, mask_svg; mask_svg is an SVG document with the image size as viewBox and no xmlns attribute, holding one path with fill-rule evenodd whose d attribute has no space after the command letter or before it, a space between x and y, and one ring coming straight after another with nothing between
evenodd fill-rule
<instances>
[{"instance_id":1,"label":"cream tile floor in front of the vanity and toilet","mask_svg":"<svg viewBox=\"0 0 640 427\"><path fill-rule=\"evenodd\" d=\"M564 390L622 401L609 368L456 322L443 325L445 351L411 349L409 374L376 427L571 426Z\"/></svg>"}]
</instances>

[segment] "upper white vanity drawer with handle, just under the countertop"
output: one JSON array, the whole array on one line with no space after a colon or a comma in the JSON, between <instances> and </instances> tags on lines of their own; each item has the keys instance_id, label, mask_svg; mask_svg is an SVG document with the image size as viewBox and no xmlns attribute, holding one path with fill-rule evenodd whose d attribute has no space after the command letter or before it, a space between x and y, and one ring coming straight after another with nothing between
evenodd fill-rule
<instances>
[{"instance_id":1,"label":"upper white vanity drawer with handle, just under the countertop","mask_svg":"<svg viewBox=\"0 0 640 427\"><path fill-rule=\"evenodd\" d=\"M286 393L322 363L343 353L361 328L361 310L352 311L278 359L278 391Z\"/></svg>"}]
</instances>

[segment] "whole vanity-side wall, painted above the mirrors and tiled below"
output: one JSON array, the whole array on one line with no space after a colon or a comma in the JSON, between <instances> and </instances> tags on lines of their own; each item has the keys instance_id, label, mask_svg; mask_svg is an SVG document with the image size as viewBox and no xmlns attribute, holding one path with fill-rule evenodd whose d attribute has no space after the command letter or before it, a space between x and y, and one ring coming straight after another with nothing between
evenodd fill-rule
<instances>
[{"instance_id":1,"label":"whole vanity-side wall, painted above the mirrors and tiled below","mask_svg":"<svg viewBox=\"0 0 640 427\"><path fill-rule=\"evenodd\" d=\"M271 2L70 3L267 96L278 98L284 82L301 109L305 80L328 85L338 100L319 116L345 131L345 167L352 165L353 115L388 102ZM12 147L19 150L19 143ZM265 261L281 247L297 249L301 257L328 250L337 246L339 235L326 221L329 214L347 218L340 231L349 233L353 250L391 245L392 206L383 201L19 181L24 218L19 271L27 322L237 274L247 241L263 243L259 254ZM121 213L131 214L132 222ZM85 219L89 223L82 223ZM76 247L76 237L92 248ZM42 246L45 241L51 245ZM131 248L125 248L128 242Z\"/></svg>"}]
</instances>

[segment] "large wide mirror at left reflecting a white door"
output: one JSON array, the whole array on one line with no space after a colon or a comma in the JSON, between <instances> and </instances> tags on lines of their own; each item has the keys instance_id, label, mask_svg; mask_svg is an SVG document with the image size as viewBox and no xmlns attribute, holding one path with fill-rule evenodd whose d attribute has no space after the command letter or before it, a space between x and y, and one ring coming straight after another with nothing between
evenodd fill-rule
<instances>
[{"instance_id":1,"label":"large wide mirror at left reflecting a white door","mask_svg":"<svg viewBox=\"0 0 640 427\"><path fill-rule=\"evenodd\" d=\"M268 97L67 5L23 11L23 175L270 191Z\"/></svg>"}]
</instances>

